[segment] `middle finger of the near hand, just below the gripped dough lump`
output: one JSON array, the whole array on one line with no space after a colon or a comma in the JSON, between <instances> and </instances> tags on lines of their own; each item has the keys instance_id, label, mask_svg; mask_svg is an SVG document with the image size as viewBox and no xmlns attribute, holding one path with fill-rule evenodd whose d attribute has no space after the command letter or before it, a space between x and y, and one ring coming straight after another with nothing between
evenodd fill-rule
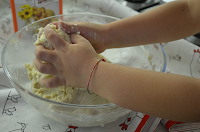
<instances>
[{"instance_id":1,"label":"middle finger of the near hand, just below the gripped dough lump","mask_svg":"<svg viewBox=\"0 0 200 132\"><path fill-rule=\"evenodd\" d=\"M56 52L54 50L47 50L42 45L35 47L35 56L37 59L49 63L53 63L57 60Z\"/></svg>"}]
</instances>

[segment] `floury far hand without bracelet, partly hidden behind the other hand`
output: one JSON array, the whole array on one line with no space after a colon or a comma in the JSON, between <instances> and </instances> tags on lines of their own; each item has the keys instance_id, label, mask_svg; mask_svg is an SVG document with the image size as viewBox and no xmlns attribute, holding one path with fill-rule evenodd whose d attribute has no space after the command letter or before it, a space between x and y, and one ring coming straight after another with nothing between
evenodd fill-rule
<instances>
[{"instance_id":1,"label":"floury far hand without bracelet, partly hidden behind the other hand","mask_svg":"<svg viewBox=\"0 0 200 132\"><path fill-rule=\"evenodd\" d=\"M63 21L59 21L58 26L66 33L80 32L80 35L92 44L98 54L106 50L106 43L109 42L106 26L87 22L65 23Z\"/></svg>"}]
</instances>

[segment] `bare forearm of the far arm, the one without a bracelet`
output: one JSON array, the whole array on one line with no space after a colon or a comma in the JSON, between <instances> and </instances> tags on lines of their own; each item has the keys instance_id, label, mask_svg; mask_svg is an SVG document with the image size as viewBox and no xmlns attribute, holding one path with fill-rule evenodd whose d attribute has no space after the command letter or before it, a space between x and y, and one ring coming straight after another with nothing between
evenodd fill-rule
<instances>
[{"instance_id":1,"label":"bare forearm of the far arm, the one without a bracelet","mask_svg":"<svg viewBox=\"0 0 200 132\"><path fill-rule=\"evenodd\" d=\"M186 0L174 1L108 24L111 38L107 48L163 43L194 35L200 31L200 20L193 16L199 10L194 4L199 1L190 1L193 9Z\"/></svg>"}]
</instances>

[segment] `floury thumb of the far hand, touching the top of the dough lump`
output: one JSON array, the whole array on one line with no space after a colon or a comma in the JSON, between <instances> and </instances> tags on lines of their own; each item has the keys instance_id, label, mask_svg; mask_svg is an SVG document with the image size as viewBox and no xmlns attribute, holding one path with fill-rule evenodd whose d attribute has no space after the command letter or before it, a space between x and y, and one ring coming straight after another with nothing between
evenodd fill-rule
<instances>
[{"instance_id":1,"label":"floury thumb of the far hand, touching the top of the dough lump","mask_svg":"<svg viewBox=\"0 0 200 132\"><path fill-rule=\"evenodd\" d=\"M58 22L58 27L60 27L63 31L68 34L73 34L79 31L78 26L72 23L66 23L64 21Z\"/></svg>"}]
</instances>

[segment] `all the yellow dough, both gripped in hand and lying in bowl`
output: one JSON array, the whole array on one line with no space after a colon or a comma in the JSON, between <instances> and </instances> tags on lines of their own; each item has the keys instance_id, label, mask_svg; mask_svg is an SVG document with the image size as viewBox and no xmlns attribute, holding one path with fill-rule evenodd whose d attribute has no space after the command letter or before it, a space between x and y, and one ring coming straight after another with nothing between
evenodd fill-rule
<instances>
[{"instance_id":1,"label":"all the yellow dough, both gripped in hand and lying in bowl","mask_svg":"<svg viewBox=\"0 0 200 132\"><path fill-rule=\"evenodd\" d=\"M49 25L54 31L56 31L63 39L71 43L67 33L62 31L60 28L56 29L55 25ZM53 46L46 39L43 28L39 29L38 37L35 45L42 44L45 48L53 50ZM100 58L104 58L99 55ZM106 60L106 58L104 58ZM108 61L108 60L107 60ZM108 104L108 100L98 96L97 94L88 94L86 89L59 86L56 88L45 88L40 85L39 80L42 77L51 78L53 75L42 74L35 66L30 63L26 63L28 77L31 80L31 89L34 94L41 96L46 99L50 99L62 103L73 103L82 105L97 105L97 104Z\"/></svg>"}]
</instances>

